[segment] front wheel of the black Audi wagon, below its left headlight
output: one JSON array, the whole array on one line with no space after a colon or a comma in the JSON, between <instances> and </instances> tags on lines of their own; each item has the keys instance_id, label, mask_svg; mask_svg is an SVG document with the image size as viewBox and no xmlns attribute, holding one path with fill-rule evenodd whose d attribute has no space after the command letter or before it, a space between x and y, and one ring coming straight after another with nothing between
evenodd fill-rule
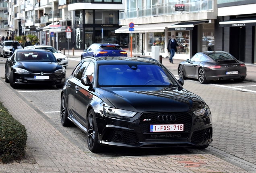
<instances>
[{"instance_id":1,"label":"front wheel of the black Audi wagon, below its left headlight","mask_svg":"<svg viewBox=\"0 0 256 173\"><path fill-rule=\"evenodd\" d=\"M87 143L91 152L97 153L101 151L101 146L98 143L98 127L94 111L89 111L87 118Z\"/></svg>"}]
</instances>

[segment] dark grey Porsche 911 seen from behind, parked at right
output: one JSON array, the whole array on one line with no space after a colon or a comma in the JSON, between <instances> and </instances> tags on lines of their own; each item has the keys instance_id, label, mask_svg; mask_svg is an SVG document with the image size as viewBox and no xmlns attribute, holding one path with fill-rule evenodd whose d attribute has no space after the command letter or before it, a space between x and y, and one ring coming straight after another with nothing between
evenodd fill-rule
<instances>
[{"instance_id":1,"label":"dark grey Porsche 911 seen from behind, parked at right","mask_svg":"<svg viewBox=\"0 0 256 173\"><path fill-rule=\"evenodd\" d=\"M196 78L202 84L210 80L242 82L246 78L246 65L227 52L200 52L181 62L178 73L184 79Z\"/></svg>"}]
</instances>

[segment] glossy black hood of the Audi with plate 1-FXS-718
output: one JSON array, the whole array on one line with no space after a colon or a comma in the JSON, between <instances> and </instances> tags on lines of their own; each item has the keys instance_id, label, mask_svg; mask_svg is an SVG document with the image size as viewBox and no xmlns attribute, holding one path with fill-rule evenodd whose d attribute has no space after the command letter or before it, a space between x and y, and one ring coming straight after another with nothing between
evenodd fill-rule
<instances>
[{"instance_id":1,"label":"glossy black hood of the Audi with plate 1-FXS-718","mask_svg":"<svg viewBox=\"0 0 256 173\"><path fill-rule=\"evenodd\" d=\"M97 93L114 107L137 113L150 111L191 111L205 105L202 98L185 89L165 87L97 88Z\"/></svg>"}]
</instances>

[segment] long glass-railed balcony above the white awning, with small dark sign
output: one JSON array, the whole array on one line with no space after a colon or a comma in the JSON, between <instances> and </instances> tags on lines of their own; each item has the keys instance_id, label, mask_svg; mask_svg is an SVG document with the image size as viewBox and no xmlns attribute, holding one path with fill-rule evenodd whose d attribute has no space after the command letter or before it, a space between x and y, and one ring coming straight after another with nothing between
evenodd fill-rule
<instances>
[{"instance_id":1,"label":"long glass-railed balcony above the white awning, with small dark sign","mask_svg":"<svg viewBox=\"0 0 256 173\"><path fill-rule=\"evenodd\" d=\"M150 16L166 16L181 13L186 14L196 12L212 12L214 6L213 0L202 0L198 2L183 3L185 4L185 11L179 12L175 11L175 4L182 4L182 2L145 6L142 8L130 9L129 11L120 10L119 20L126 20L131 18L144 18Z\"/></svg>"}]
</instances>

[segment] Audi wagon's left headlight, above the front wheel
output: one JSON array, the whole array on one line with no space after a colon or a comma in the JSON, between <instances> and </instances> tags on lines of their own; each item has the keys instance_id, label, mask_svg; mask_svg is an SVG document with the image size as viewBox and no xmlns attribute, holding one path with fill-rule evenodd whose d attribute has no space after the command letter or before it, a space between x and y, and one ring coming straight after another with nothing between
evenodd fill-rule
<instances>
[{"instance_id":1,"label":"Audi wagon's left headlight, above the front wheel","mask_svg":"<svg viewBox=\"0 0 256 173\"><path fill-rule=\"evenodd\" d=\"M133 117L136 113L131 111L125 111L122 109L114 109L110 107L103 107L103 112L106 117Z\"/></svg>"}]
</instances>

